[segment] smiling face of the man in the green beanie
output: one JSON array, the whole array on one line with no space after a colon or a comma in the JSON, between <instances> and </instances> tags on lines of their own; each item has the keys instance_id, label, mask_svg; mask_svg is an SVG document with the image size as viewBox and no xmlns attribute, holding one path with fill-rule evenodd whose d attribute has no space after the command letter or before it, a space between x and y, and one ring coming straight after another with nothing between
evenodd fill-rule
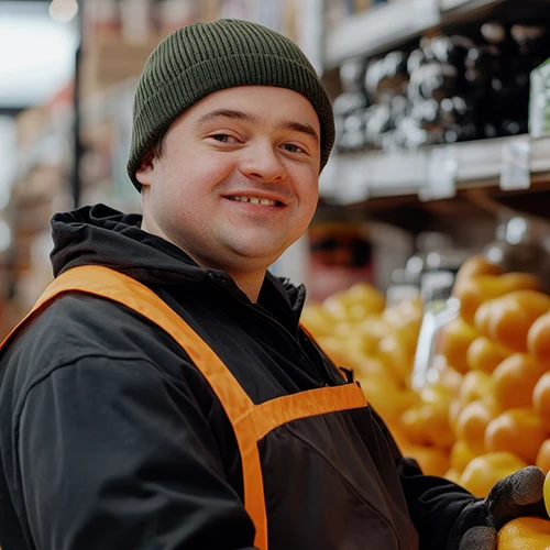
<instances>
[{"instance_id":1,"label":"smiling face of the man in the green beanie","mask_svg":"<svg viewBox=\"0 0 550 550\"><path fill-rule=\"evenodd\" d=\"M138 172L144 226L204 267L266 270L311 221L319 166L319 119L301 95L217 91L176 119Z\"/></svg>"}]
</instances>

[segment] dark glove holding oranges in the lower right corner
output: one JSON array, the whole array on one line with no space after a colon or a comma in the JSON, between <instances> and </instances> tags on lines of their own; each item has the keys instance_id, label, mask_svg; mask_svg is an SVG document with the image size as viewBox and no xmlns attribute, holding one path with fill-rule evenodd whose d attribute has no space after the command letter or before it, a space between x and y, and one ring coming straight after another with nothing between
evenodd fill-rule
<instances>
[{"instance_id":1,"label":"dark glove holding oranges in the lower right corner","mask_svg":"<svg viewBox=\"0 0 550 550\"><path fill-rule=\"evenodd\" d=\"M454 521L446 550L496 550L497 532L512 519L548 518L540 468L527 466L495 483L487 498L468 504Z\"/></svg>"}]
</instances>

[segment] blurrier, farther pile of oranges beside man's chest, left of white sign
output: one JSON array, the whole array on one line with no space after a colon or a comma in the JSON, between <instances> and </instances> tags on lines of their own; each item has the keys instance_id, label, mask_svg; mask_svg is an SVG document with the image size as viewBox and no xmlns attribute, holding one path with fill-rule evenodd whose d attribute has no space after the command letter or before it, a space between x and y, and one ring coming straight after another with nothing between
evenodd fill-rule
<instances>
[{"instance_id":1,"label":"blurrier, farther pile of oranges beside man's chest, left of white sign","mask_svg":"<svg viewBox=\"0 0 550 550\"><path fill-rule=\"evenodd\" d=\"M322 304L308 305L301 322L337 365L352 367L367 399L387 424L418 400L408 380L422 307L386 307L375 287L358 283Z\"/></svg>"}]
</instances>

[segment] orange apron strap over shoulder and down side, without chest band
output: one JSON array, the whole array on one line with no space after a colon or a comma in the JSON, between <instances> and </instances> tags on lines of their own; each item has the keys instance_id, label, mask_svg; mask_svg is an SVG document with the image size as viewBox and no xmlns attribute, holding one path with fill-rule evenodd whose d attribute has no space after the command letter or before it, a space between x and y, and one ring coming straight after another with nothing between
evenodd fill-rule
<instances>
[{"instance_id":1,"label":"orange apron strap over shoulder and down side, without chest band","mask_svg":"<svg viewBox=\"0 0 550 550\"><path fill-rule=\"evenodd\" d=\"M202 373L233 426L254 409L253 402L223 362L167 304L138 280L108 267L86 265L74 267L59 275L45 289L23 321L10 332L1 346L41 308L59 294L67 292L82 292L123 304L164 329L185 349ZM254 544L260 550L267 550L267 518L257 440L245 427L234 428L234 431L242 458L244 507L256 530Z\"/></svg>"}]
</instances>

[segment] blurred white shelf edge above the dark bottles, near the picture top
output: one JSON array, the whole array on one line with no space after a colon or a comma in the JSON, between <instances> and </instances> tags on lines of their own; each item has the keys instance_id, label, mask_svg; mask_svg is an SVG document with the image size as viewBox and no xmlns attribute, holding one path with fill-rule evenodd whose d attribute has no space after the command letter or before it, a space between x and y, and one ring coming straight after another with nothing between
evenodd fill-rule
<instances>
[{"instance_id":1,"label":"blurred white shelf edge above the dark bottles, near the picture top","mask_svg":"<svg viewBox=\"0 0 550 550\"><path fill-rule=\"evenodd\" d=\"M438 0L399 0L352 16L327 34L324 67L369 56L439 24Z\"/></svg>"}]
</instances>

